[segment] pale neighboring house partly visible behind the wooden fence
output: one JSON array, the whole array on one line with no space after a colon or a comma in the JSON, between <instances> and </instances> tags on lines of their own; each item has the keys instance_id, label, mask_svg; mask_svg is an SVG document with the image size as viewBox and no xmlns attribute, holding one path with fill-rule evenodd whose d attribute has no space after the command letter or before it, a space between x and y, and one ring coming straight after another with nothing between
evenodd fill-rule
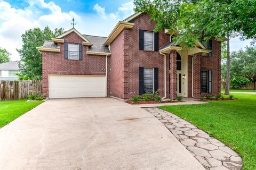
<instances>
[{"instance_id":1,"label":"pale neighboring house partly visible behind the wooden fence","mask_svg":"<svg viewBox=\"0 0 256 170\"><path fill-rule=\"evenodd\" d=\"M19 61L0 64L0 80L18 80Z\"/></svg>"}]
</instances>

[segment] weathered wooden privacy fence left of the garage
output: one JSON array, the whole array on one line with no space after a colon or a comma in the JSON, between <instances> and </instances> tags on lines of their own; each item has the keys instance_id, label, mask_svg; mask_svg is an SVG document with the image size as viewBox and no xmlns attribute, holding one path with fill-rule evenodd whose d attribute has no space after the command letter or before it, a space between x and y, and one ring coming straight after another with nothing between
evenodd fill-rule
<instances>
[{"instance_id":1,"label":"weathered wooden privacy fence left of the garage","mask_svg":"<svg viewBox=\"0 0 256 170\"><path fill-rule=\"evenodd\" d=\"M42 80L0 81L0 100L27 99L35 92L42 94Z\"/></svg>"}]
</instances>

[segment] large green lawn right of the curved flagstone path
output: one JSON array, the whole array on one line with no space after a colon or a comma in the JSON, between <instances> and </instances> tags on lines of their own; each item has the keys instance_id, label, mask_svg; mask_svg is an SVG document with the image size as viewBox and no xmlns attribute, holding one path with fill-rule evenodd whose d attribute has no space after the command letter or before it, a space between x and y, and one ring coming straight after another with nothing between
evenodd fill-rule
<instances>
[{"instance_id":1,"label":"large green lawn right of the curved flagstone path","mask_svg":"<svg viewBox=\"0 0 256 170\"><path fill-rule=\"evenodd\" d=\"M237 151L243 169L256 169L256 94L234 94L236 100L202 105L161 106L195 124Z\"/></svg>"}]
</instances>

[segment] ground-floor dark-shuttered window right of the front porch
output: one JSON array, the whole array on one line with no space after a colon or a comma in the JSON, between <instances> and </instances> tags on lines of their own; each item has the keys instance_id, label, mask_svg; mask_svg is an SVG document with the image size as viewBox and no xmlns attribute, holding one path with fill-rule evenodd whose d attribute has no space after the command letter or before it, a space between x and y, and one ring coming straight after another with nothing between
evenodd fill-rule
<instances>
[{"instance_id":1,"label":"ground-floor dark-shuttered window right of the front porch","mask_svg":"<svg viewBox=\"0 0 256 170\"><path fill-rule=\"evenodd\" d=\"M201 71L201 93L212 93L212 71Z\"/></svg>"}]
</instances>

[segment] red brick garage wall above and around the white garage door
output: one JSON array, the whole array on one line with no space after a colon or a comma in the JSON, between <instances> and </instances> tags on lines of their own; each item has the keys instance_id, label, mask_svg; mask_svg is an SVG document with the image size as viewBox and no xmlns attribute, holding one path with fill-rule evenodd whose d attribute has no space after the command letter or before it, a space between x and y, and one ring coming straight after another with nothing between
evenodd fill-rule
<instances>
[{"instance_id":1,"label":"red brick garage wall above and around the white garage door","mask_svg":"<svg viewBox=\"0 0 256 170\"><path fill-rule=\"evenodd\" d=\"M65 43L82 44L82 39L76 33L70 33L64 37ZM87 55L88 46L83 46L82 60L65 60L64 43L58 43L60 53L43 52L43 94L48 97L48 75L49 74L67 74L67 75L106 75L106 56ZM110 57L108 57L110 62ZM108 65L110 66L110 63ZM109 72L108 66L108 72ZM108 79L108 84L109 84ZM108 88L109 95L109 88Z\"/></svg>"}]
</instances>

